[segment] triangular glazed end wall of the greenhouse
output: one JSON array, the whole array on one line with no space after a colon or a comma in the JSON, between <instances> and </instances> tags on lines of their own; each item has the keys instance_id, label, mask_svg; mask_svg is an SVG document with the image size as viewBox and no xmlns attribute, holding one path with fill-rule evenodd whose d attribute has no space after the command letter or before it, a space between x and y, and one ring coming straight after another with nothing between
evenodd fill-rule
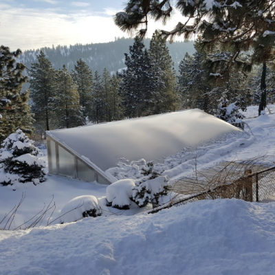
<instances>
[{"instance_id":1,"label":"triangular glazed end wall of the greenhouse","mask_svg":"<svg viewBox=\"0 0 275 275\"><path fill-rule=\"evenodd\" d=\"M111 184L111 181L88 166L80 157L69 152L65 146L47 136L47 158L49 173L80 179L82 181L98 181L100 184Z\"/></svg>"}]
</instances>

